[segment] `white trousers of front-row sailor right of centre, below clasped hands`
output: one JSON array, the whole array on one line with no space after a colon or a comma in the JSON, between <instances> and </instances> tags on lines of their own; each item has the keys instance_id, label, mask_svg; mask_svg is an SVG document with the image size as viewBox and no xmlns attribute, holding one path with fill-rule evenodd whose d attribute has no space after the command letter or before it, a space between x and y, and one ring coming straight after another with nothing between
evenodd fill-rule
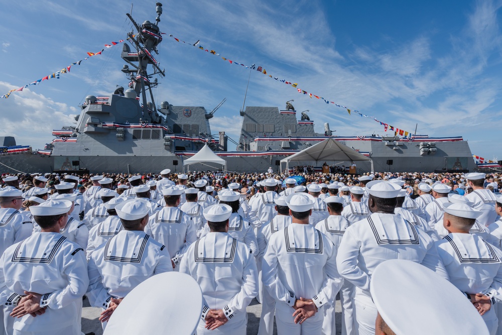
<instances>
[{"instance_id":1,"label":"white trousers of front-row sailor right of centre, below clasped hands","mask_svg":"<svg viewBox=\"0 0 502 335\"><path fill-rule=\"evenodd\" d=\"M303 322L295 323L295 309L284 302L276 302L276 323L278 335L321 335L324 313L321 309Z\"/></svg>"}]
</instances>

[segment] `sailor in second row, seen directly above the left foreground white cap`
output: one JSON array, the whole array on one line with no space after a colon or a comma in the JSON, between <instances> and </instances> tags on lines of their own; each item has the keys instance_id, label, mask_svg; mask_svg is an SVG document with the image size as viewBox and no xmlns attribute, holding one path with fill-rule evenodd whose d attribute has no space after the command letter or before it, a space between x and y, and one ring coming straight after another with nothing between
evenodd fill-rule
<instances>
[{"instance_id":1,"label":"sailor in second row, seen directly above the left foreground white cap","mask_svg":"<svg viewBox=\"0 0 502 335\"><path fill-rule=\"evenodd\" d=\"M145 233L167 246L176 271L188 246L197 240L193 219L178 208L182 192L176 186L164 188L162 194L166 206L150 217L145 228Z\"/></svg>"}]
</instances>

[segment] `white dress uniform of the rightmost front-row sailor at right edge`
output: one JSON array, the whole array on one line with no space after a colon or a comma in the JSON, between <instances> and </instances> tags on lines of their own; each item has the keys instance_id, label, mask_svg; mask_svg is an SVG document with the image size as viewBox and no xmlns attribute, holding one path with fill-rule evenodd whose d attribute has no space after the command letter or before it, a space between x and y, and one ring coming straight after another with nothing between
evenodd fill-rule
<instances>
[{"instance_id":1,"label":"white dress uniform of the rightmost front-row sailor at right edge","mask_svg":"<svg viewBox=\"0 0 502 335\"><path fill-rule=\"evenodd\" d=\"M502 294L502 251L472 234L448 234L436 245L450 282L460 291L490 297ZM495 334L494 308L482 317L490 334Z\"/></svg>"}]
</instances>

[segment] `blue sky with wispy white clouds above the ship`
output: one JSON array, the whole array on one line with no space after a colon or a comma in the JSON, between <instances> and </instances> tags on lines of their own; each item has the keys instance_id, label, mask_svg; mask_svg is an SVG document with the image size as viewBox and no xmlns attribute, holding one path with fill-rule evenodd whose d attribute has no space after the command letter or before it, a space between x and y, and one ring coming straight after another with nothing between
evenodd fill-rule
<instances>
[{"instance_id":1,"label":"blue sky with wispy white clouds above the ship","mask_svg":"<svg viewBox=\"0 0 502 335\"><path fill-rule=\"evenodd\" d=\"M87 52L125 39L131 3L119 0L0 0L0 95L52 74ZM472 154L502 159L502 1L240 0L165 1L159 24L166 33L154 55L166 77L157 105L226 102L211 132L238 140L250 70L273 77L399 129L430 137L462 136ZM155 2L133 3L133 18L154 21ZM169 35L215 50L215 56ZM106 48L105 48L106 49ZM85 96L127 87L121 44L0 99L0 136L43 148L53 129L73 125ZM251 71L246 106L308 109L315 130L324 123L338 136L386 134L370 118L300 94ZM298 114L299 117L299 114ZM234 148L229 145L229 150Z\"/></svg>"}]
</instances>

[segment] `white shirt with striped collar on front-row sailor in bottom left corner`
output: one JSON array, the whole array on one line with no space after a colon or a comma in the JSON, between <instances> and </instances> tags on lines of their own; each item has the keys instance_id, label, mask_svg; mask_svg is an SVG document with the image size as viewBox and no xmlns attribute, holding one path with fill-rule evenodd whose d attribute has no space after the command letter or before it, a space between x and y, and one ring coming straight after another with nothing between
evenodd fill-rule
<instances>
[{"instance_id":1,"label":"white shirt with striped collar on front-row sailor in bottom left corner","mask_svg":"<svg viewBox=\"0 0 502 335\"><path fill-rule=\"evenodd\" d=\"M88 285L82 248L58 233L33 233L0 258L0 304L28 291L43 294L40 306L47 306L43 315L16 318L17 330L56 332L73 324Z\"/></svg>"}]
</instances>

